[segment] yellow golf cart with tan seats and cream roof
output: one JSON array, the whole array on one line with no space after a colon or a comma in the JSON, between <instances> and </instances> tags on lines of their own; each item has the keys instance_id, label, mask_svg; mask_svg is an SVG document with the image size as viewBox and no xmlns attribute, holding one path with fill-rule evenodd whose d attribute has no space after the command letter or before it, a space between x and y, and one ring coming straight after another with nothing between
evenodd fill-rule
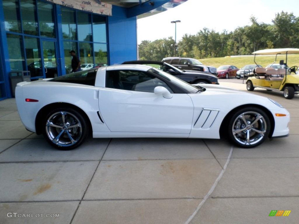
<instances>
[{"instance_id":1,"label":"yellow golf cart with tan seats and cream roof","mask_svg":"<svg viewBox=\"0 0 299 224\"><path fill-rule=\"evenodd\" d=\"M280 48L280 49L265 49L253 52L254 63L256 55L286 55L286 62L280 60L281 68L261 68L256 67L252 77L248 77L246 81L246 89L253 91L254 88L263 88L266 90L283 91L286 99L292 99L294 94L299 93L299 75L296 74L297 66L292 66L287 69L288 54L299 53L298 48ZM274 61L274 63L275 63Z\"/></svg>"}]
</instances>

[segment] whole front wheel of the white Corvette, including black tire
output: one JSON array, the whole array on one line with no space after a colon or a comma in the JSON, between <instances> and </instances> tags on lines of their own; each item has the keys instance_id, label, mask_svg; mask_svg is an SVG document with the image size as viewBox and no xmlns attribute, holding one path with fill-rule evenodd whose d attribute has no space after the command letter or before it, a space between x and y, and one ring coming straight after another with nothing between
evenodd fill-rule
<instances>
[{"instance_id":1,"label":"whole front wheel of the white Corvette, including black tire","mask_svg":"<svg viewBox=\"0 0 299 224\"><path fill-rule=\"evenodd\" d=\"M246 122L245 122L246 121ZM271 129L268 115L256 107L246 107L235 112L228 122L228 138L242 148L262 144Z\"/></svg>"}]
</instances>

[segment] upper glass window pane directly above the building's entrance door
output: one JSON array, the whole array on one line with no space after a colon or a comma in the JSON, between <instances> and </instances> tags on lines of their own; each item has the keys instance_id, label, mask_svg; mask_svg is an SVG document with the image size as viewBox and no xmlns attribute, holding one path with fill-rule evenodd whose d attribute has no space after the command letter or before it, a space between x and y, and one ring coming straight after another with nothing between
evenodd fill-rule
<instances>
[{"instance_id":1,"label":"upper glass window pane directly above the building's entrance door","mask_svg":"<svg viewBox=\"0 0 299 224\"><path fill-rule=\"evenodd\" d=\"M40 36L55 38L54 9L52 4L37 2Z\"/></svg>"}]
</instances>

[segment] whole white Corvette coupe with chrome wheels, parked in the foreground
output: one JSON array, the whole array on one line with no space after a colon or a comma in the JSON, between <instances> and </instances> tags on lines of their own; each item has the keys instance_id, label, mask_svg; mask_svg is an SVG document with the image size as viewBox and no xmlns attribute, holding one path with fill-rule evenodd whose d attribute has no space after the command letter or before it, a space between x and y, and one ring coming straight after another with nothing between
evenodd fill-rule
<instances>
[{"instance_id":1,"label":"whole white Corvette coupe with chrome wheels, parked in the foreground","mask_svg":"<svg viewBox=\"0 0 299 224\"><path fill-rule=\"evenodd\" d=\"M26 129L54 147L94 138L227 136L250 148L289 135L277 102L218 85L188 83L147 65L115 65L20 82L16 103Z\"/></svg>"}]
</instances>

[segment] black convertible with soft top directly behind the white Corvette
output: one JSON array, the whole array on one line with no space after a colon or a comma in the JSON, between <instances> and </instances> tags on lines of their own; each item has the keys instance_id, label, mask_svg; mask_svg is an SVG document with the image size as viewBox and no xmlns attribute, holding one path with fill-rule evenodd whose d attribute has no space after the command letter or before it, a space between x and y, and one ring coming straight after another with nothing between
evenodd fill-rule
<instances>
[{"instance_id":1,"label":"black convertible with soft top directly behind the white Corvette","mask_svg":"<svg viewBox=\"0 0 299 224\"><path fill-rule=\"evenodd\" d=\"M123 62L122 64L150 65L164 72L167 72L173 76L176 76L177 78L182 79L185 82L188 82L190 84L199 84L199 83L219 84L218 78L210 73L191 71L191 70L180 70L166 62L137 60L137 61Z\"/></svg>"}]
</instances>

